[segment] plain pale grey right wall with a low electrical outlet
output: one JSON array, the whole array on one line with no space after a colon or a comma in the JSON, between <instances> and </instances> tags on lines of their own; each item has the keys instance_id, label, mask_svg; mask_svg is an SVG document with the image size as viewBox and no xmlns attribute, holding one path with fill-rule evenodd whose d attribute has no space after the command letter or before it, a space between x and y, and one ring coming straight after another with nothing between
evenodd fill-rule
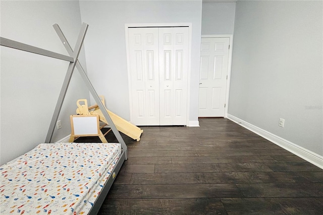
<instances>
[{"instance_id":1,"label":"plain pale grey right wall with a low electrical outlet","mask_svg":"<svg viewBox=\"0 0 323 215\"><path fill-rule=\"evenodd\" d=\"M229 114L323 155L322 33L321 1L238 1Z\"/></svg>"}]
</instances>

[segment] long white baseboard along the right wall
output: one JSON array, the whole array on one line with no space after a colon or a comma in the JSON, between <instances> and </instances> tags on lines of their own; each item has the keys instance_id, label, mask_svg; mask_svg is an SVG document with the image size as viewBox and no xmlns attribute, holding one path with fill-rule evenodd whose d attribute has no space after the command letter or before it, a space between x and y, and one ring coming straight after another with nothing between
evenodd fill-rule
<instances>
[{"instance_id":1,"label":"long white baseboard along the right wall","mask_svg":"<svg viewBox=\"0 0 323 215\"><path fill-rule=\"evenodd\" d=\"M323 169L323 156L228 114L228 119Z\"/></svg>"}]
</instances>

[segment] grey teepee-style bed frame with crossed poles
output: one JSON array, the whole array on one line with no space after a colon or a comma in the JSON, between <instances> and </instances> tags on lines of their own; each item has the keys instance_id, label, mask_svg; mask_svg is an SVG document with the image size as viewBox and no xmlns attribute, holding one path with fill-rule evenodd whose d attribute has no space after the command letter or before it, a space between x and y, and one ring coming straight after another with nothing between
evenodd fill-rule
<instances>
[{"instance_id":1,"label":"grey teepee-style bed frame with crossed poles","mask_svg":"<svg viewBox=\"0 0 323 215\"><path fill-rule=\"evenodd\" d=\"M57 104L56 104L56 108L55 108L55 111L53 113L50 125L49 125L49 129L48 129L48 132L47 132L45 143L50 143L51 140L52 140L52 135L53 135L54 130L55 130L55 125L56 125L56 122L57 122L57 120L59 118L59 114L60 114L61 109L62 109L63 101L64 101L64 98L65 98L65 95L66 95L66 92L67 92L67 89L68 89L68 86L69 86L69 83L70 83L70 80L71 80L71 77L73 75L75 67L79 71L83 81L85 82L85 85L87 86L87 88L91 92L94 100L96 101L97 105L99 106L99 109L102 111L102 114L105 117L106 121L109 123L109 125L111 127L111 130L113 131L113 133L115 134L118 142L122 146L122 154L120 155L119 160L118 160L115 168L113 169L111 176L106 181L104 187L102 188L102 190L100 192L100 195L97 197L94 205L92 206L92 208L91 208L91 210L89 212L89 214L97 214L97 212L99 211L99 209L100 209L100 207L101 207L107 193L109 192L109 190L110 190L116 176L118 175L122 164L124 163L124 161L126 159L128 159L127 145L126 145L125 141L123 140L123 138L121 137L121 135L120 135L119 131L117 130L115 124L111 120L111 117L109 116L106 109L104 108L104 105L102 104L101 99L99 98L98 94L94 90L94 88L93 88L90 80L88 79L84 69L82 68L80 62L78 61L79 53L80 53L81 47L83 45L83 41L84 41L85 34L86 34L86 31L87 31L87 28L88 28L88 24L86 24L86 23L82 24L82 27L81 27L81 30L80 30L76 45L74 47L74 50L71 48L70 44L68 43L68 41L67 41L66 37L64 36L64 34L63 34L61 28L59 27L59 25L54 24L53 28L57 32L58 36L60 37L63 45L65 46L65 48L68 51L70 56L61 55L60 53L52 52L52 51L49 51L49 50L45 50L45 49L42 49L42 48L38 48L38 47L35 47L35 46L24 44L24 43L21 43L21 42L10 40L10 39L4 38L4 37L0 37L0 45L70 62L68 70L66 72L66 76L65 76L65 79L64 79L64 82L63 82L63 86L62 86L59 98L58 98L58 101L57 101Z\"/></svg>"}]
</instances>

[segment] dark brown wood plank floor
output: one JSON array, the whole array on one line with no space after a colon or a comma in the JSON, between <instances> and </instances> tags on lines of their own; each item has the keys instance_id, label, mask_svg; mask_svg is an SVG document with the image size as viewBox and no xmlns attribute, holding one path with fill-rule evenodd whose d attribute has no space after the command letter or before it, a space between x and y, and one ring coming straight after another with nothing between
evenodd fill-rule
<instances>
[{"instance_id":1,"label":"dark brown wood plank floor","mask_svg":"<svg viewBox=\"0 0 323 215\"><path fill-rule=\"evenodd\" d=\"M129 158L99 214L323 214L323 170L230 120L199 124L123 135Z\"/></svg>"}]
</instances>

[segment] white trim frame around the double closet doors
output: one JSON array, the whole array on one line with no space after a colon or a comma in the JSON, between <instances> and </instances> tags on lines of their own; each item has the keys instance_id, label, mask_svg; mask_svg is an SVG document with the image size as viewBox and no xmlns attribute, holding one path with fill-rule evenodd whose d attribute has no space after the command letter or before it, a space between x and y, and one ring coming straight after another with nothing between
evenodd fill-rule
<instances>
[{"instance_id":1,"label":"white trim frame around the double closet doors","mask_svg":"<svg viewBox=\"0 0 323 215\"><path fill-rule=\"evenodd\" d=\"M127 71L128 71L128 87L129 87L129 106L130 121L133 122L132 116L132 96L131 96L131 72L130 72L130 52L128 40L128 28L145 28L145 27L188 27L188 76L187 76L187 110L186 110L186 126L189 126L190 113L190 91L191 91L191 52L192 52L192 23L130 23L125 24L126 36L126 55L127 55Z\"/></svg>"}]
</instances>

